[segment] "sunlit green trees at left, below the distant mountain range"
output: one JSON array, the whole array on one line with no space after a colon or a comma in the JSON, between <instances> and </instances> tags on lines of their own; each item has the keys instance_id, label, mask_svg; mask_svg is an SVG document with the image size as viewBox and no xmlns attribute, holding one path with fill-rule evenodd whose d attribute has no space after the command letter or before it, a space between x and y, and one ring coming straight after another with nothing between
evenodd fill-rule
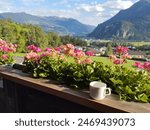
<instances>
[{"instance_id":1,"label":"sunlit green trees at left, below the distant mountain range","mask_svg":"<svg viewBox=\"0 0 150 130\"><path fill-rule=\"evenodd\" d=\"M80 46L86 45L86 42L79 37L60 36L54 32L44 32L39 26L19 24L12 22L10 19L0 20L0 38L9 43L17 44L17 52L25 52L26 46L31 44L43 49L68 43Z\"/></svg>"}]
</instances>

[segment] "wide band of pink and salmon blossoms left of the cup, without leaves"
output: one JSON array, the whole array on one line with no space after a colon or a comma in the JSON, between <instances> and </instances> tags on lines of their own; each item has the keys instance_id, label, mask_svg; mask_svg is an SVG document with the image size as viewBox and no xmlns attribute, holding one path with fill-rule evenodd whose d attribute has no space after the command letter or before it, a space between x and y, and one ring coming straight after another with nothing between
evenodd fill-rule
<instances>
[{"instance_id":1,"label":"wide band of pink and salmon blossoms left of the cup, without leaves","mask_svg":"<svg viewBox=\"0 0 150 130\"><path fill-rule=\"evenodd\" d=\"M77 64L90 64L92 63L90 56L93 56L93 52L88 51L84 53L76 49L72 44L66 44L55 48L46 48L44 51L35 45L29 45L27 51L29 53L25 56L25 60L33 62L37 62L40 58L45 56L61 60L66 60L65 57L69 56L72 57Z\"/></svg>"}]
</instances>

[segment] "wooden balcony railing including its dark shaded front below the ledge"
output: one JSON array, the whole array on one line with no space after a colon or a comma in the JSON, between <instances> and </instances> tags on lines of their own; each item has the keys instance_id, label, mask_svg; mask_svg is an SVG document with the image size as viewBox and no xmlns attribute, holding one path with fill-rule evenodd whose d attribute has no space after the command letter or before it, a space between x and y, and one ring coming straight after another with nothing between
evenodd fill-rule
<instances>
[{"instance_id":1,"label":"wooden balcony railing including its dark shaded front below the ledge","mask_svg":"<svg viewBox=\"0 0 150 130\"><path fill-rule=\"evenodd\" d=\"M7 106L12 112L150 112L149 103L120 101L117 95L93 100L89 91L75 91L55 81L34 79L20 70L0 71Z\"/></svg>"}]
</instances>

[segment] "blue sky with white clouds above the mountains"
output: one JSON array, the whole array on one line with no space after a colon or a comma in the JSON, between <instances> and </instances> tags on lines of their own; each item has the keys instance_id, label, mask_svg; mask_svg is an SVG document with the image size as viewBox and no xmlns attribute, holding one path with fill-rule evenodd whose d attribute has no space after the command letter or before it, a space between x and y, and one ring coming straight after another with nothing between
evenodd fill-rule
<instances>
[{"instance_id":1,"label":"blue sky with white clouds above the mountains","mask_svg":"<svg viewBox=\"0 0 150 130\"><path fill-rule=\"evenodd\" d=\"M95 25L110 19L139 0L1 0L0 13L26 12L37 16L74 18Z\"/></svg>"}]
</instances>

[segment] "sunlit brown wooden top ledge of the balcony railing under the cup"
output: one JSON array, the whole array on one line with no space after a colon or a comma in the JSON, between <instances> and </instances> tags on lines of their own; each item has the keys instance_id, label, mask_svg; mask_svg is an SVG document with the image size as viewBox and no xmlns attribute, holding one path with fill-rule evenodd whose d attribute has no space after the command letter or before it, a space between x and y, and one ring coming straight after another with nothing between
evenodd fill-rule
<instances>
[{"instance_id":1,"label":"sunlit brown wooden top ledge of the balcony railing under the cup","mask_svg":"<svg viewBox=\"0 0 150 130\"><path fill-rule=\"evenodd\" d=\"M0 77L7 80L31 87L39 91L55 95L71 102L98 110L100 112L131 112L149 113L149 103L136 103L120 101L118 95L111 94L104 100L93 100L89 96L89 91L77 91L67 88L56 81L46 79L35 79L29 74L22 73L15 69L0 69Z\"/></svg>"}]
</instances>

